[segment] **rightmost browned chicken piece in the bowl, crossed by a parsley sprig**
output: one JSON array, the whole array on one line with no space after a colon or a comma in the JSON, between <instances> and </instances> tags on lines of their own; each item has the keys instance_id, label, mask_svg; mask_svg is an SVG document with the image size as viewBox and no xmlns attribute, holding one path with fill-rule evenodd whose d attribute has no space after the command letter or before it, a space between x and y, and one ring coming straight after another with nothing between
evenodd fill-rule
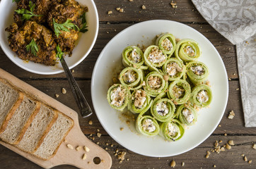
<instances>
[{"instance_id":1,"label":"rightmost browned chicken piece in the bowl, crossed by a parsley sprig","mask_svg":"<svg viewBox=\"0 0 256 169\"><path fill-rule=\"evenodd\" d=\"M82 8L78 2L74 0L59 1L54 3L48 13L47 23L54 30L53 19L55 23L62 24L66 20L71 20L78 27L81 26L81 15L87 11L87 8ZM78 39L78 30L69 29L69 32L63 30L60 31L59 37L57 37L57 43L62 51L66 51L71 56L75 46L75 42Z\"/></svg>"}]
</instances>

